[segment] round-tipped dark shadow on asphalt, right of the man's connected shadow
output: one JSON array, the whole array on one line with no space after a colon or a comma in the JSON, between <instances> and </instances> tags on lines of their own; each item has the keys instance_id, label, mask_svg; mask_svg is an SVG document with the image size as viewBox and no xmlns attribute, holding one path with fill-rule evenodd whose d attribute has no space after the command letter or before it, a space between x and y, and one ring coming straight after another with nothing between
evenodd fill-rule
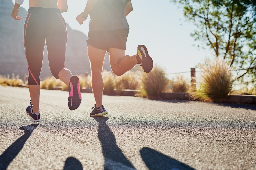
<instances>
[{"instance_id":1,"label":"round-tipped dark shadow on asphalt, right of the man's connected shadow","mask_svg":"<svg viewBox=\"0 0 256 170\"><path fill-rule=\"evenodd\" d=\"M166 156L154 149L144 147L140 150L141 158L150 170L194 170L190 166Z\"/></svg>"}]
</instances>

